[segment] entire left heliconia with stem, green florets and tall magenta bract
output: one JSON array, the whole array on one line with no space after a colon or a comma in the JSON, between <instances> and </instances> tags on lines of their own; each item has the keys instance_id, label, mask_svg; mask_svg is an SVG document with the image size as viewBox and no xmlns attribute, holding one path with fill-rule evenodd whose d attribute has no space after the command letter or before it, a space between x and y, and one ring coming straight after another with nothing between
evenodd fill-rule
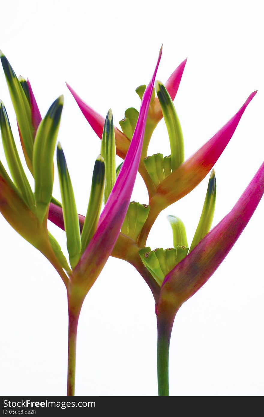
<instances>
[{"instance_id":1,"label":"entire left heliconia with stem, green florets and tall magenta bract","mask_svg":"<svg viewBox=\"0 0 264 417\"><path fill-rule=\"evenodd\" d=\"M108 188L106 205L100 216L105 171L108 170L109 164L105 167L102 156L96 160L88 211L81 232L73 187L60 143L57 146L57 163L62 205L52 197L53 154L63 108L63 96L55 100L45 118L41 120L30 83L23 78L18 79L5 55L1 53L0 56L18 121L25 160L35 180L33 192L18 156L7 112L1 102L1 133L13 181L0 163L0 211L21 236L46 256L63 279L69 313L67 394L74 395L76 334L80 309L86 294L113 250L126 216L141 157L148 107L161 51L153 77L143 95L138 121L129 142L130 146L126 150L123 166L116 181L112 182L111 189ZM105 146L110 143L111 148L111 143L115 142L111 111L108 112L103 125ZM107 158L108 152L105 154ZM106 183L109 183L109 175ZM50 201L63 213L70 266L58 242L48 232Z\"/></svg>"}]
</instances>

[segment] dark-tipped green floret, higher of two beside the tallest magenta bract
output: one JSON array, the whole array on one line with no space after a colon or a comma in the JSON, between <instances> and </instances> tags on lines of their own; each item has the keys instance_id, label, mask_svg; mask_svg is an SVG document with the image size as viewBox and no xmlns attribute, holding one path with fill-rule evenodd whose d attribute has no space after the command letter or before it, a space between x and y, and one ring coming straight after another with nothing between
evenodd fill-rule
<instances>
[{"instance_id":1,"label":"dark-tipped green floret, higher of two beside the tallest magenta bract","mask_svg":"<svg viewBox=\"0 0 264 417\"><path fill-rule=\"evenodd\" d=\"M104 203L106 203L116 182L116 139L111 109L109 109L106 115L103 126L101 155L105 161L106 169L106 186L104 192Z\"/></svg>"}]
</instances>

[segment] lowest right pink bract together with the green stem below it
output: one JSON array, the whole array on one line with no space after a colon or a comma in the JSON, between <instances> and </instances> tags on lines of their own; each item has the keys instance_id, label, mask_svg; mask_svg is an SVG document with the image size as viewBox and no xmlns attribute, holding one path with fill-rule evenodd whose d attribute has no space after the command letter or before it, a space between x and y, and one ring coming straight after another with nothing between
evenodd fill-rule
<instances>
[{"instance_id":1,"label":"lowest right pink bract together with the green stem below it","mask_svg":"<svg viewBox=\"0 0 264 417\"><path fill-rule=\"evenodd\" d=\"M168 351L180 306L203 286L249 222L264 193L264 163L234 208L165 277L156 305L159 395L168 395Z\"/></svg>"}]
</instances>

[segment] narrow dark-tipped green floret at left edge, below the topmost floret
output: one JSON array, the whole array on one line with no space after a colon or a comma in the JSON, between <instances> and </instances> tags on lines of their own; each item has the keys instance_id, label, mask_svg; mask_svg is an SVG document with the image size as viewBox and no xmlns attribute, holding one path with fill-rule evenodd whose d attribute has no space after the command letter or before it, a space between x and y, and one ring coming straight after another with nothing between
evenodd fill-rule
<instances>
[{"instance_id":1,"label":"narrow dark-tipped green floret at left edge, below the topmost floret","mask_svg":"<svg viewBox=\"0 0 264 417\"><path fill-rule=\"evenodd\" d=\"M0 128L2 133L3 148L5 151L5 157L12 175L13 181L20 191L27 206L34 211L35 199L33 191L31 190L28 178L25 175L22 163L20 161L18 150L15 146L15 141L11 126L8 119L5 106L0 101Z\"/></svg>"}]
</instances>

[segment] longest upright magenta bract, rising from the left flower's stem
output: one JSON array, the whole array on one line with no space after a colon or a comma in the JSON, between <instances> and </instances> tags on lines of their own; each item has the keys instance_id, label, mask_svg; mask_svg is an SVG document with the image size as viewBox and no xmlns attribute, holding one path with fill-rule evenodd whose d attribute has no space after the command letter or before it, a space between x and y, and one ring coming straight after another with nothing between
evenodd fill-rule
<instances>
[{"instance_id":1,"label":"longest upright magenta bract, rising from the left flower's stem","mask_svg":"<svg viewBox=\"0 0 264 417\"><path fill-rule=\"evenodd\" d=\"M138 122L121 171L101 213L96 232L73 270L73 276L75 277L73 280L83 274L87 277L86 291L91 288L103 269L116 243L126 216L141 157L148 107L158 64L161 59L161 52L162 50L159 53L153 77L144 93Z\"/></svg>"}]
</instances>

